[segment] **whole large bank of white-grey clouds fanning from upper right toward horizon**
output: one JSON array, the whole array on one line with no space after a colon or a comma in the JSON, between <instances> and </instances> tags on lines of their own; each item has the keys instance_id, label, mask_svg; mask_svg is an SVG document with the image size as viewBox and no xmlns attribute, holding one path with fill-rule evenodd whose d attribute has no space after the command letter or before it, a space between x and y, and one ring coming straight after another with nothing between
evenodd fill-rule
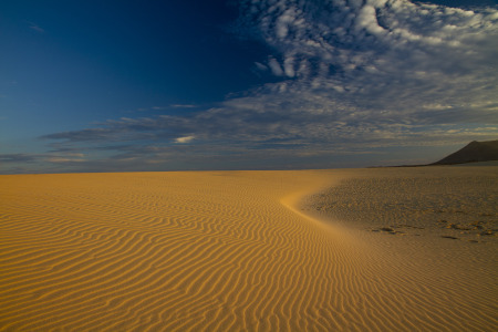
<instances>
[{"instance_id":1,"label":"whole large bank of white-grey clouds fanning from upper right toward horizon","mask_svg":"<svg viewBox=\"0 0 498 332\"><path fill-rule=\"evenodd\" d=\"M498 136L497 9L406 0L240 6L237 31L274 50L255 65L279 82L194 114L121 118L43 138L90 149L124 144L113 163L175 155L188 164L209 154L237 164L269 152L286 159Z\"/></svg>"}]
</instances>

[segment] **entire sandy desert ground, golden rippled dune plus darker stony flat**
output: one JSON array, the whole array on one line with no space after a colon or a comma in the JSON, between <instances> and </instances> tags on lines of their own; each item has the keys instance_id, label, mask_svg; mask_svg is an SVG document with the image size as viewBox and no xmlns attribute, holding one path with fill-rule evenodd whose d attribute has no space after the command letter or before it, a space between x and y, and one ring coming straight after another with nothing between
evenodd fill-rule
<instances>
[{"instance_id":1,"label":"entire sandy desert ground, golden rippled dune plus darker stony flat","mask_svg":"<svg viewBox=\"0 0 498 332\"><path fill-rule=\"evenodd\" d=\"M497 331L497 201L496 166L0 176L0 330Z\"/></svg>"}]
</instances>

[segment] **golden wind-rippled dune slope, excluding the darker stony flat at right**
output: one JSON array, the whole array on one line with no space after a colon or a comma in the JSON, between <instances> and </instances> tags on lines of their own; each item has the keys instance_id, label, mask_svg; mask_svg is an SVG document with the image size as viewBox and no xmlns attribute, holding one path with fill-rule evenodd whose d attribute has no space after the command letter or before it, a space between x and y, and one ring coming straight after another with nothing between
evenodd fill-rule
<instances>
[{"instance_id":1,"label":"golden wind-rippled dune slope, excluding the darker stony flat at right","mask_svg":"<svg viewBox=\"0 0 498 332\"><path fill-rule=\"evenodd\" d=\"M447 280L405 276L380 249L295 208L349 176L0 176L0 330L496 328L489 298L475 307L479 298L448 292Z\"/></svg>"}]
</instances>

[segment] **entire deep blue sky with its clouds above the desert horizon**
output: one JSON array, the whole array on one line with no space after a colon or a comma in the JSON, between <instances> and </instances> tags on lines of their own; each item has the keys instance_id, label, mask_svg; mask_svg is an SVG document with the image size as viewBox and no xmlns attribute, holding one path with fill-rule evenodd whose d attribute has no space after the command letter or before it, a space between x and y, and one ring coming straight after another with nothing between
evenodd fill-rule
<instances>
[{"instance_id":1,"label":"entire deep blue sky with its clouds above the desert horizon","mask_svg":"<svg viewBox=\"0 0 498 332\"><path fill-rule=\"evenodd\" d=\"M0 173L363 167L498 138L497 1L1 1Z\"/></svg>"}]
</instances>

